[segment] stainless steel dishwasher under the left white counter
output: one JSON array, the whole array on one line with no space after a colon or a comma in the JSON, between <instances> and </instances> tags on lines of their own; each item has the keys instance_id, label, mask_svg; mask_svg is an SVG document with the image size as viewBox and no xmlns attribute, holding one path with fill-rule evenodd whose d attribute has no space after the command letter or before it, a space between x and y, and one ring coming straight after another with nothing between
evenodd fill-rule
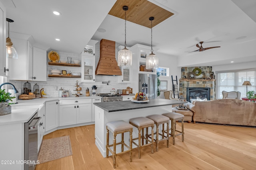
<instances>
[{"instance_id":1,"label":"stainless steel dishwasher under the left white counter","mask_svg":"<svg viewBox=\"0 0 256 170\"><path fill-rule=\"evenodd\" d=\"M34 170L36 168L38 159L38 123L40 119L41 117L38 117L38 113L36 113L27 123L25 123L24 160L28 162L24 163L24 170Z\"/></svg>"}]
</instances>

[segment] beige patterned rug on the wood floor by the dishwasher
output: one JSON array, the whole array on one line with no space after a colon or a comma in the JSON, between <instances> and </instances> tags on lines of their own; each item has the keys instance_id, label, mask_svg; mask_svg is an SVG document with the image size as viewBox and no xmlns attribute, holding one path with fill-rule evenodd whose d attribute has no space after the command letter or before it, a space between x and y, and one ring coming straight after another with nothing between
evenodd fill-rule
<instances>
[{"instance_id":1,"label":"beige patterned rug on the wood floor by the dishwasher","mask_svg":"<svg viewBox=\"0 0 256 170\"><path fill-rule=\"evenodd\" d=\"M38 160L41 163L72 155L69 136L45 139L42 141Z\"/></svg>"}]
</instances>

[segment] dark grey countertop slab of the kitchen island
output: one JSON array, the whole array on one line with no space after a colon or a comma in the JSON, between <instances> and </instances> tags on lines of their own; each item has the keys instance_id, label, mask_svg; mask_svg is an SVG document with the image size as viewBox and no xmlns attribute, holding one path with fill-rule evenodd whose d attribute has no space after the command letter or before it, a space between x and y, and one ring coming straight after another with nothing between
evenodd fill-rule
<instances>
[{"instance_id":1,"label":"dark grey countertop slab of the kitchen island","mask_svg":"<svg viewBox=\"0 0 256 170\"><path fill-rule=\"evenodd\" d=\"M132 110L132 109L142 109L142 108L148 108L148 107L168 106L168 105L183 104L183 103L187 103L187 102L181 102L178 100L167 100L167 99L150 99L148 103L134 103L132 101L121 101L121 102L94 103L94 105L104 109L107 112L113 112L113 111L123 111L123 110Z\"/></svg>"}]
</instances>

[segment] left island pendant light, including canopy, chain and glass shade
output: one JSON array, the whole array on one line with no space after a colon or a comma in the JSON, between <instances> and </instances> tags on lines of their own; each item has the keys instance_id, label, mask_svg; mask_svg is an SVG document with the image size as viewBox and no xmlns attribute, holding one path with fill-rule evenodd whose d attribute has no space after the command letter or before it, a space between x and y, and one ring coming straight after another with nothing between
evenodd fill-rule
<instances>
[{"instance_id":1,"label":"left island pendant light, including canopy, chain and glass shade","mask_svg":"<svg viewBox=\"0 0 256 170\"><path fill-rule=\"evenodd\" d=\"M118 51L118 66L131 66L132 65L132 51L126 49L126 11L128 10L128 6L123 6L124 10L124 49Z\"/></svg>"}]
</instances>

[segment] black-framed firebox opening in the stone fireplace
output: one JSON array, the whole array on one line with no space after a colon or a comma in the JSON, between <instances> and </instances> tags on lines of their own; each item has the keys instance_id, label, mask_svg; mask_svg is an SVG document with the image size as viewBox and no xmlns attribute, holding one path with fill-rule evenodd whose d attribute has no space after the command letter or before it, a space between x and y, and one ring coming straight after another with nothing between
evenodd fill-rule
<instances>
[{"instance_id":1,"label":"black-framed firebox opening in the stone fireplace","mask_svg":"<svg viewBox=\"0 0 256 170\"><path fill-rule=\"evenodd\" d=\"M190 99L197 98L210 100L210 88L187 87L187 101L191 102Z\"/></svg>"}]
</instances>

